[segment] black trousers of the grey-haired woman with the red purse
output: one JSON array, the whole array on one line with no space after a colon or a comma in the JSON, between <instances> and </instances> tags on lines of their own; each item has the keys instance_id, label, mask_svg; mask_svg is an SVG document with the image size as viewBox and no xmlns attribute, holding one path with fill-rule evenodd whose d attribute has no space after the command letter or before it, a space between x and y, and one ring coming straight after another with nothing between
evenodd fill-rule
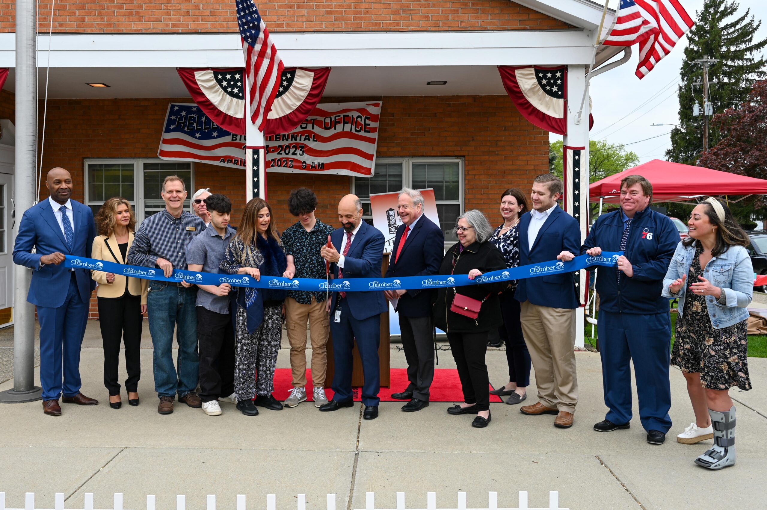
<instances>
[{"instance_id":1,"label":"black trousers of the grey-haired woman with the red purse","mask_svg":"<svg viewBox=\"0 0 767 510\"><path fill-rule=\"evenodd\" d=\"M476 403L478 411L490 409L490 383L485 364L487 336L487 331L447 334L461 380L463 401Z\"/></svg>"}]
</instances>

